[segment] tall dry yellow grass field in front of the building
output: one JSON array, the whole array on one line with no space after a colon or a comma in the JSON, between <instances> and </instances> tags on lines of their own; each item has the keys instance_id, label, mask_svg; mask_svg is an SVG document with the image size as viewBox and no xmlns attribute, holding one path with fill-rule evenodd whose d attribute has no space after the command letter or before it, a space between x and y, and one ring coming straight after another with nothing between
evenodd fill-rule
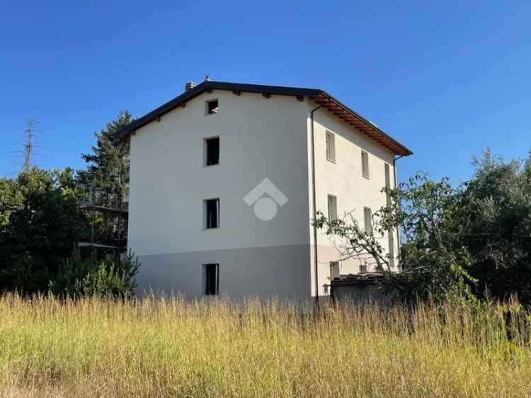
<instances>
[{"instance_id":1,"label":"tall dry yellow grass field in front of the building","mask_svg":"<svg viewBox=\"0 0 531 398\"><path fill-rule=\"evenodd\" d=\"M4 295L0 395L529 397L529 322L504 309Z\"/></svg>"}]
</instances>

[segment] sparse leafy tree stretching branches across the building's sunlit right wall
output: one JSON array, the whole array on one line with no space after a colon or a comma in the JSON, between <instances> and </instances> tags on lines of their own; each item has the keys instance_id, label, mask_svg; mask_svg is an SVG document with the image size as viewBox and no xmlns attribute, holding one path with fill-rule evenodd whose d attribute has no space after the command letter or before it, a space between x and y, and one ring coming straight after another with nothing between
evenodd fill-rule
<instances>
[{"instance_id":1,"label":"sparse leafy tree stretching branches across the building's sunlit right wall","mask_svg":"<svg viewBox=\"0 0 531 398\"><path fill-rule=\"evenodd\" d=\"M372 215L372 228L360 227L348 214L338 220L327 220L322 214L316 225L333 237L341 259L370 261L386 276L384 286L399 291L405 299L432 297L472 297L469 274L471 258L460 244L455 217L457 191L446 178L430 181L418 173L394 190L382 190L389 204ZM387 246L382 242L387 231L401 230L400 273L389 268Z\"/></svg>"}]
</instances>

